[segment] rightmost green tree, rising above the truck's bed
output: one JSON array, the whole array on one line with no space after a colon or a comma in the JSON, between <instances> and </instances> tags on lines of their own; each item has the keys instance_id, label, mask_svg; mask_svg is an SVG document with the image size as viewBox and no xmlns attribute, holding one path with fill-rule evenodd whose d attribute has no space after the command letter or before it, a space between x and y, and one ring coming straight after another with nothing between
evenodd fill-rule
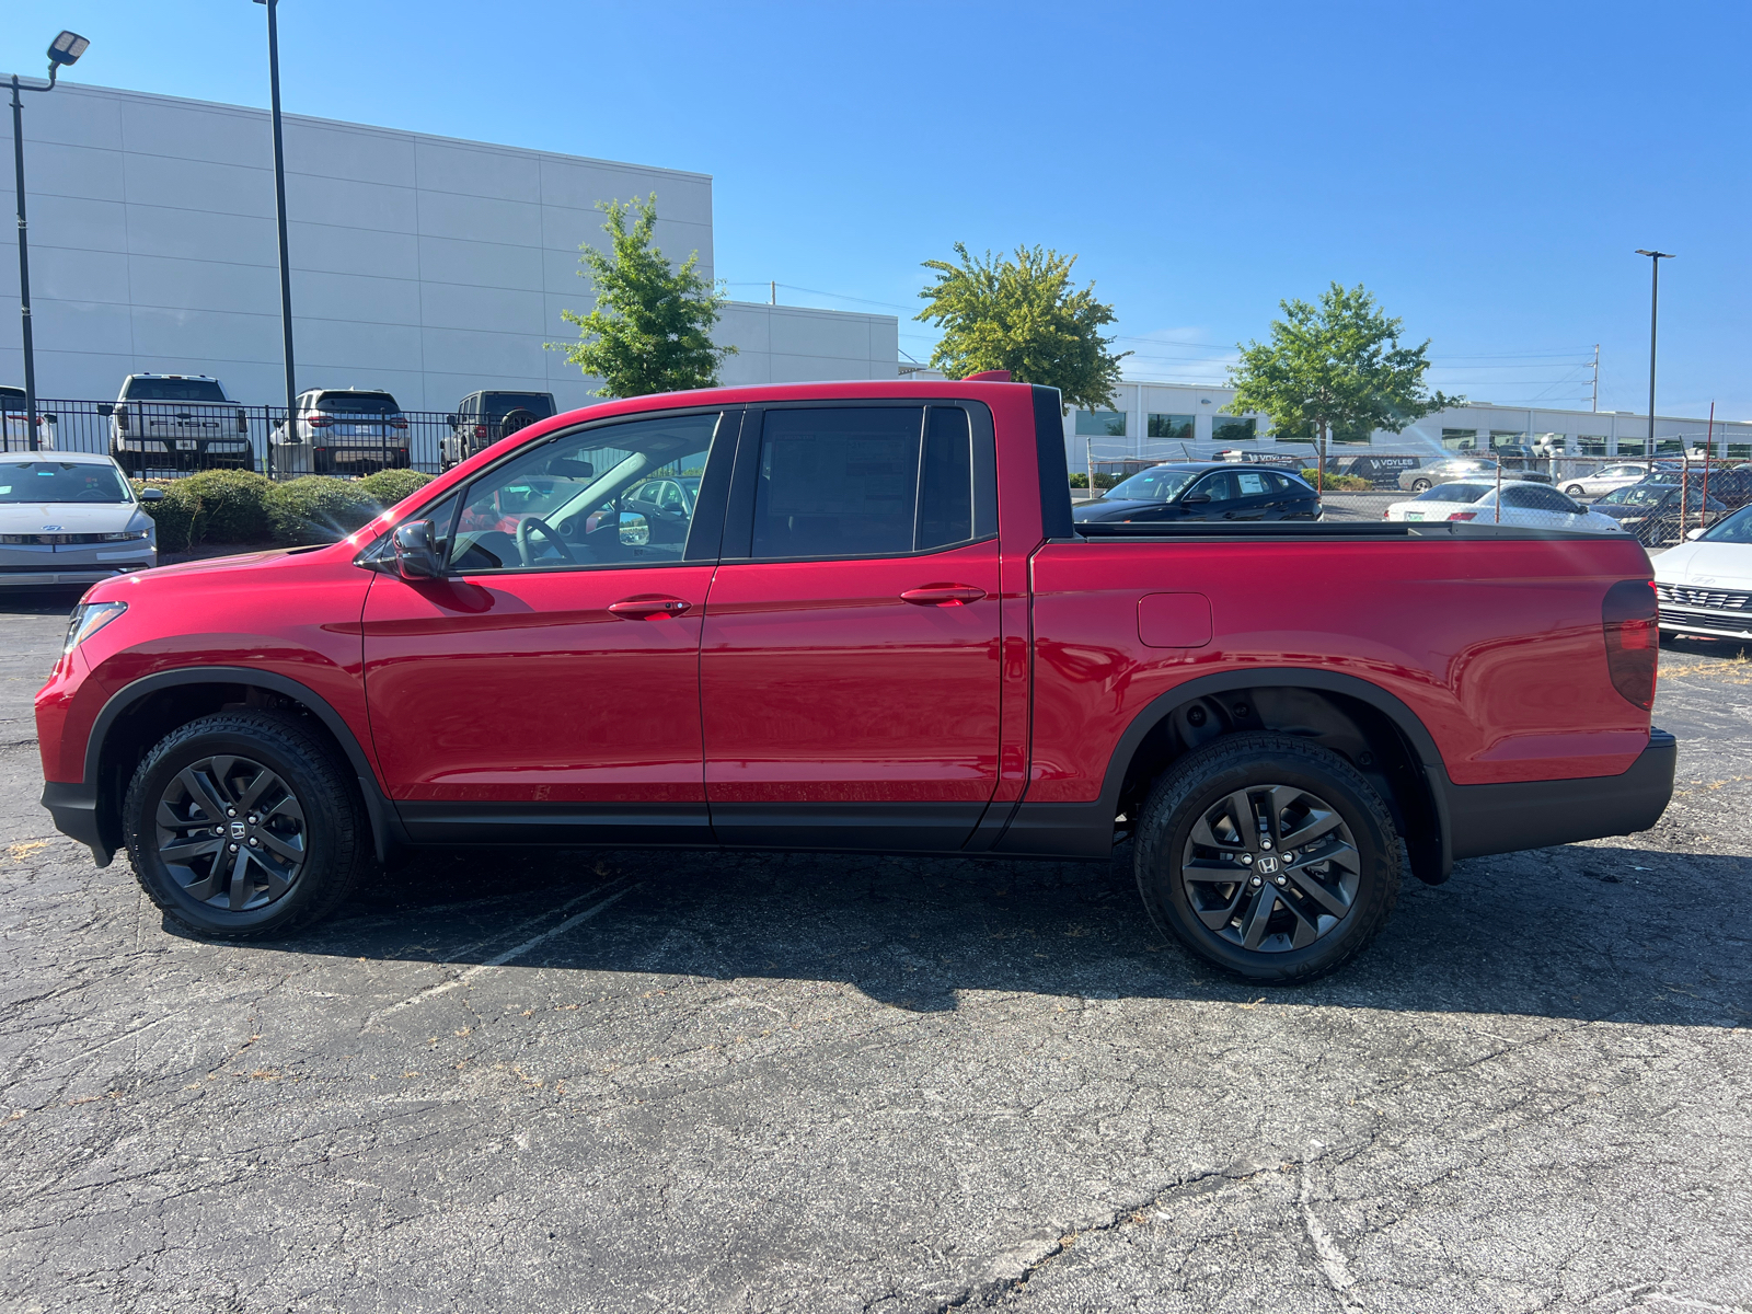
<instances>
[{"instance_id":1,"label":"rightmost green tree, rising above the truck's bed","mask_svg":"<svg viewBox=\"0 0 1752 1314\"><path fill-rule=\"evenodd\" d=\"M1240 361L1228 371L1235 399L1223 410L1265 412L1279 436L1307 434L1319 442L1367 438L1375 429L1398 433L1431 412L1465 398L1424 391L1428 340L1400 345L1403 321L1389 319L1361 284L1332 284L1319 305L1279 301L1268 343L1240 343Z\"/></svg>"}]
</instances>

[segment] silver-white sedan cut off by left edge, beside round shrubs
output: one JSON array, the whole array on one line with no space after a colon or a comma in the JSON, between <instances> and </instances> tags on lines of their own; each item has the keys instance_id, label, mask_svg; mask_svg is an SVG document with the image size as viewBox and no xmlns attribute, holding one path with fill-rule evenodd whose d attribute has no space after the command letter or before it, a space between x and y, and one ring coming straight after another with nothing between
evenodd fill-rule
<instances>
[{"instance_id":1,"label":"silver-white sedan cut off by left edge, beside round shrubs","mask_svg":"<svg viewBox=\"0 0 1752 1314\"><path fill-rule=\"evenodd\" d=\"M158 501L147 489L144 501ZM96 583L158 564L158 531L107 456L0 456L0 587Z\"/></svg>"}]
</instances>

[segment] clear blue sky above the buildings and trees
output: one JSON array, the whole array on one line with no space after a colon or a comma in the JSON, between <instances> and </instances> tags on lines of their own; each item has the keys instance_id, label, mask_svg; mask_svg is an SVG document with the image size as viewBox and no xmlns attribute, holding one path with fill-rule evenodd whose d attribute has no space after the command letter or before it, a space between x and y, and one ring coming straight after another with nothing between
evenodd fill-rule
<instances>
[{"instance_id":1,"label":"clear blue sky above the buildings and trees","mask_svg":"<svg viewBox=\"0 0 1752 1314\"><path fill-rule=\"evenodd\" d=\"M7 9L4 68L67 26L72 79L266 103L247 0ZM1134 378L1219 378L1337 279L1433 340L1444 391L1586 406L1598 342L1601 408L1643 410L1656 245L1661 412L1727 417L1748 37L1743 2L280 5L289 112L711 173L734 296L894 310L920 359L922 259L1042 244Z\"/></svg>"}]
</instances>

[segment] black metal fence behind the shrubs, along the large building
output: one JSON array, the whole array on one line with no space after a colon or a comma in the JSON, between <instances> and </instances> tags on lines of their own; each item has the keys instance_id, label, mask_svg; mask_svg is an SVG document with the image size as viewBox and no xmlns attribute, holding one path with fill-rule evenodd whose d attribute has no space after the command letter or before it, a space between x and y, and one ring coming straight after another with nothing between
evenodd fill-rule
<instances>
[{"instance_id":1,"label":"black metal fence behind the shrubs, along the large building","mask_svg":"<svg viewBox=\"0 0 1752 1314\"><path fill-rule=\"evenodd\" d=\"M177 478L203 470L254 470L273 478L436 475L505 434L499 422L463 424L443 412L301 417L287 433L286 406L179 401L74 401L39 398L37 424L23 408L0 412L0 450L112 456L135 478Z\"/></svg>"}]
</instances>

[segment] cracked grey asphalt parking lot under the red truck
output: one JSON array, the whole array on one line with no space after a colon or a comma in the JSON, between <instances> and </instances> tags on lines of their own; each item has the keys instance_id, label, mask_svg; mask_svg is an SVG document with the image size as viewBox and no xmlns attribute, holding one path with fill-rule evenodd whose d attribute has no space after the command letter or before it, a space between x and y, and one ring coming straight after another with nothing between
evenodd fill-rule
<instances>
[{"instance_id":1,"label":"cracked grey asphalt parking lot under the red truck","mask_svg":"<svg viewBox=\"0 0 1752 1314\"><path fill-rule=\"evenodd\" d=\"M1752 661L1631 839L1263 993L1125 865L433 855L168 934L37 806L0 601L7 1310L1752 1309Z\"/></svg>"}]
</instances>

